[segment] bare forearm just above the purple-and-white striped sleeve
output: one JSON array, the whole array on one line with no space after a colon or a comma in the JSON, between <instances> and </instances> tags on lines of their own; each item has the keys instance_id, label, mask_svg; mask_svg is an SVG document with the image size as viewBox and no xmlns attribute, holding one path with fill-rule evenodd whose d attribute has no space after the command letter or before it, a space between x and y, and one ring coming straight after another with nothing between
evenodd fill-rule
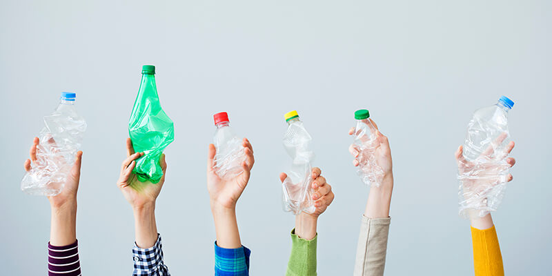
<instances>
[{"instance_id":1,"label":"bare forearm just above the purple-and-white striped sleeve","mask_svg":"<svg viewBox=\"0 0 552 276\"><path fill-rule=\"evenodd\" d=\"M77 240L77 199L53 207L50 224L50 244L66 246Z\"/></svg>"}]
</instances>

